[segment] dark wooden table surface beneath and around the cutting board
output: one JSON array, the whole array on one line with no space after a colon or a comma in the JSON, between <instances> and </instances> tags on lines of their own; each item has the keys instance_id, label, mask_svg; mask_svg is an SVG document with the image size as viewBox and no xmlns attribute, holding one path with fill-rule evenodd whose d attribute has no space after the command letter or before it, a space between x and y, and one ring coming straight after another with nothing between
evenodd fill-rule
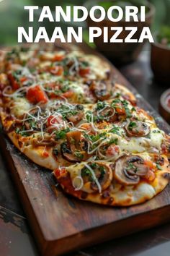
<instances>
[{"instance_id":1,"label":"dark wooden table surface beneath and around the cutting board","mask_svg":"<svg viewBox=\"0 0 170 256\"><path fill-rule=\"evenodd\" d=\"M120 68L122 74L137 88L151 105L158 109L161 93L169 85L158 85L153 80L149 65L150 52L140 54L133 64ZM161 60L160 60L161 61ZM0 155L0 255L1 256L40 256L34 242L34 234L27 225L16 189ZM104 244L83 249L71 254L76 256L169 256L170 223L138 234L115 239Z\"/></svg>"}]
</instances>

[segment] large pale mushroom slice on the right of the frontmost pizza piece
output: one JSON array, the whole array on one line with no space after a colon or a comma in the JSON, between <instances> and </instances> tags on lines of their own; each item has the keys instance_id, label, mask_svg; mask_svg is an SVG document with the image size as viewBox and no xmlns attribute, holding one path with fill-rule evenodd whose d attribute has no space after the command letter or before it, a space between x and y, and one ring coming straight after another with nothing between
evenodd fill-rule
<instances>
[{"instance_id":1,"label":"large pale mushroom slice on the right of the frontmost pizza piece","mask_svg":"<svg viewBox=\"0 0 170 256\"><path fill-rule=\"evenodd\" d=\"M138 155L124 155L115 163L114 176L118 182L134 185L140 182L140 176L146 176L149 167Z\"/></svg>"}]
</instances>

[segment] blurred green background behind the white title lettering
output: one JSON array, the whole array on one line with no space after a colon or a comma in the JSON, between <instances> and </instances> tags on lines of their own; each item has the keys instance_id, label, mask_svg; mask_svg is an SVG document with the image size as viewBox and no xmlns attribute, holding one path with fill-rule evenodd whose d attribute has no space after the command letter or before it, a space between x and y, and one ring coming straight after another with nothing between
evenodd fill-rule
<instances>
[{"instance_id":1,"label":"blurred green background behind the white title lettering","mask_svg":"<svg viewBox=\"0 0 170 256\"><path fill-rule=\"evenodd\" d=\"M127 0L128 1L128 0ZM138 0L136 0L138 2ZM54 9L55 5L81 5L84 4L84 0L72 0L72 1L55 1L55 0L0 0L0 44L1 45L12 45L17 43L17 27L24 26L34 26L35 30L38 26L45 26L48 30L49 35L53 33L55 26L58 26L55 22L42 22L42 24L37 23L40 11L37 11L34 24L28 22L27 11L24 11L24 5L38 5L42 7L43 5L49 5L51 9ZM163 25L168 25L170 27L170 0L150 0L152 4L156 7L156 17L153 22L153 33L159 30ZM61 22L60 24L66 30L66 23ZM76 26L75 23L71 24ZM84 23L85 27L86 24ZM86 38L86 32L84 34Z\"/></svg>"}]
</instances>

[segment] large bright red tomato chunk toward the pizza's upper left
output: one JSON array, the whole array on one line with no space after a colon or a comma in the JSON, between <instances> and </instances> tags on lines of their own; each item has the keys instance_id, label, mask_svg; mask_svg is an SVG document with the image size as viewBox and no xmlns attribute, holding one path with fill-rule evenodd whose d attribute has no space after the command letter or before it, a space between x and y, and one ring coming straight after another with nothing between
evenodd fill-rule
<instances>
[{"instance_id":1,"label":"large bright red tomato chunk toward the pizza's upper left","mask_svg":"<svg viewBox=\"0 0 170 256\"><path fill-rule=\"evenodd\" d=\"M27 100L30 101L30 103L47 103L48 102L48 96L46 93L40 88L39 85L36 85L35 87L32 87L27 90Z\"/></svg>"}]
</instances>

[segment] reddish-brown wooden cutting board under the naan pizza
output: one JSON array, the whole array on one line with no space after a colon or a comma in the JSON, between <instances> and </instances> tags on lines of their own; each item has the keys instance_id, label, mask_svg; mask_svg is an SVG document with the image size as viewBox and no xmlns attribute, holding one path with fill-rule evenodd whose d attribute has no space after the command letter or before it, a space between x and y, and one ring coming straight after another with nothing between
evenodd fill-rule
<instances>
[{"instance_id":1,"label":"reddish-brown wooden cutting board under the naan pizza","mask_svg":"<svg viewBox=\"0 0 170 256\"><path fill-rule=\"evenodd\" d=\"M83 48L88 53L92 51L86 46ZM158 126L169 133L169 125L136 93L122 74L111 67L117 81L135 93L138 105L149 111ZM96 205L64 194L59 186L55 187L50 171L19 153L5 135L1 135L0 143L43 256L61 255L170 220L170 185L142 205L130 208Z\"/></svg>"}]
</instances>

